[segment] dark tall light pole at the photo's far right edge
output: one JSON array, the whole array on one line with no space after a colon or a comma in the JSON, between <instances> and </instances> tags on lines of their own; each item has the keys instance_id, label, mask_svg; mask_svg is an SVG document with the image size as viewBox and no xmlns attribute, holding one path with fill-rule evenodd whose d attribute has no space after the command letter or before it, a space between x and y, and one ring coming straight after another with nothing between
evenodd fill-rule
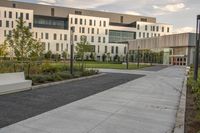
<instances>
[{"instance_id":1,"label":"dark tall light pole at the photo's far right edge","mask_svg":"<svg viewBox=\"0 0 200 133\"><path fill-rule=\"evenodd\" d=\"M197 16L196 25L196 52L195 52L195 64L194 64L194 80L198 78L198 65L199 65L199 39L200 39L200 15Z\"/></svg>"}]
</instances>

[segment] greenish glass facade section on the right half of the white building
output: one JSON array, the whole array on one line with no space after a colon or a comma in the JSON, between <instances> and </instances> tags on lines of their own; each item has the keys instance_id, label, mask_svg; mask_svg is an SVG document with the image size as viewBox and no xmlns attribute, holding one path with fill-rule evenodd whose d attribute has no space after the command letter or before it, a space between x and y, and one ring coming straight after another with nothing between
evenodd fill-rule
<instances>
[{"instance_id":1,"label":"greenish glass facade section on the right half of the white building","mask_svg":"<svg viewBox=\"0 0 200 133\"><path fill-rule=\"evenodd\" d=\"M109 31L109 43L123 43L134 39L136 39L135 32L117 30Z\"/></svg>"}]
</instances>

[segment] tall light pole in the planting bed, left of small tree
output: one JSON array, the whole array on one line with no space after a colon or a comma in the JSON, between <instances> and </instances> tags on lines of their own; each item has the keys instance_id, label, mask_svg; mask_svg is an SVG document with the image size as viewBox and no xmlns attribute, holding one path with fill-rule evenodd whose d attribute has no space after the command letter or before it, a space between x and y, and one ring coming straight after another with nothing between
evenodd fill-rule
<instances>
[{"instance_id":1,"label":"tall light pole in the planting bed, left of small tree","mask_svg":"<svg viewBox=\"0 0 200 133\"><path fill-rule=\"evenodd\" d=\"M70 74L74 74L74 32L75 27L70 27Z\"/></svg>"}]
</instances>

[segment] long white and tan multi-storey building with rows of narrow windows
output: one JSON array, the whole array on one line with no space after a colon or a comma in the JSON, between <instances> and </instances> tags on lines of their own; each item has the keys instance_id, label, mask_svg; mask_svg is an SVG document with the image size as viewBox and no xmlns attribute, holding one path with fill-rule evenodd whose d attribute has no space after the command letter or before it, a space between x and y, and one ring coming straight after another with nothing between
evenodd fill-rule
<instances>
[{"instance_id":1,"label":"long white and tan multi-storey building with rows of narrow windows","mask_svg":"<svg viewBox=\"0 0 200 133\"><path fill-rule=\"evenodd\" d=\"M36 39L45 44L45 51L70 53L70 28L75 27L74 44L86 36L95 46L95 54L124 56L125 42L172 33L172 25L156 23L156 18L110 12L83 10L31 3L0 1L0 44L22 16Z\"/></svg>"}]
</instances>

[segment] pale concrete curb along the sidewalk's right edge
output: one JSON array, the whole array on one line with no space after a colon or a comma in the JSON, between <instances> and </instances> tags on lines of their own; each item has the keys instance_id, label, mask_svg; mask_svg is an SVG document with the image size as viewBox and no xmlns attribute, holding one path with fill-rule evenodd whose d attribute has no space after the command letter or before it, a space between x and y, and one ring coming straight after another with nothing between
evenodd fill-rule
<instances>
[{"instance_id":1,"label":"pale concrete curb along the sidewalk's right edge","mask_svg":"<svg viewBox=\"0 0 200 133\"><path fill-rule=\"evenodd\" d=\"M173 133L184 133L185 131L185 111L186 111L186 94L187 94L187 76L183 83L183 89L180 97L180 103L176 114L176 123Z\"/></svg>"}]
</instances>

